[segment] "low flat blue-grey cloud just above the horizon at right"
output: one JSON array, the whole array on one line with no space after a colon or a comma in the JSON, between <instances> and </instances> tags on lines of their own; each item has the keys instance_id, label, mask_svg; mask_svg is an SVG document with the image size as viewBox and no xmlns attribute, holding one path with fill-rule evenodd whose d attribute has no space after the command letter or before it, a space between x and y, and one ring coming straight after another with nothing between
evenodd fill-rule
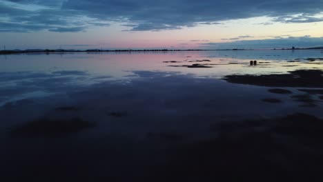
<instances>
[{"instance_id":1,"label":"low flat blue-grey cloud just above the horizon at right","mask_svg":"<svg viewBox=\"0 0 323 182\"><path fill-rule=\"evenodd\" d=\"M239 40L225 43L200 43L202 48L232 49L232 48L311 48L323 46L323 37L273 37L274 39Z\"/></svg>"}]
</instances>

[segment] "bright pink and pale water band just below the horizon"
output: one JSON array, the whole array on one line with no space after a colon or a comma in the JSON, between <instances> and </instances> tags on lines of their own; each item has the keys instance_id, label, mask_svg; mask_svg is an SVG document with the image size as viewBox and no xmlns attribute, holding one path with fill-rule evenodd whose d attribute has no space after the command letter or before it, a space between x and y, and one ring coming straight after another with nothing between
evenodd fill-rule
<instances>
[{"instance_id":1,"label":"bright pink and pale water band just below the horizon","mask_svg":"<svg viewBox=\"0 0 323 182\"><path fill-rule=\"evenodd\" d=\"M259 74L286 72L295 65L288 61L300 59L298 68L313 68L316 65L302 64L303 59L323 57L322 50L253 50L253 51L199 51L199 52L103 52L64 54L12 54L0 57L0 72L57 72L80 71L91 75L109 76L116 79L131 75L133 70L181 72L220 78L226 74ZM195 62L197 60L210 62ZM259 67L249 67L249 61L270 61ZM177 63L164 63L177 61ZM170 65L211 64L211 69L188 69ZM304 61L306 63L306 61ZM213 64L213 65L212 65Z\"/></svg>"}]
</instances>

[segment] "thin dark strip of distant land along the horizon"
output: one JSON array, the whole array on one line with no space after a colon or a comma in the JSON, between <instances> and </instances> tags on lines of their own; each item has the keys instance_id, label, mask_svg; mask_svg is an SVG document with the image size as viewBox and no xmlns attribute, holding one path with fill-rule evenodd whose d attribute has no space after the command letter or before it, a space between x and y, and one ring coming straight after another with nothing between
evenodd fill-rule
<instances>
[{"instance_id":1,"label":"thin dark strip of distant land along the horizon","mask_svg":"<svg viewBox=\"0 0 323 182\"><path fill-rule=\"evenodd\" d=\"M215 49L215 50L323 50L322 47L315 48L275 48L275 49ZM132 50L132 49L124 49L124 50L101 50L101 49L88 49L88 50L64 50L64 49L30 49L30 50L0 50L0 54L21 54L21 53L52 53L52 52L178 52L178 51L211 51L211 50L203 50L203 49L142 49L142 50Z\"/></svg>"}]
</instances>

